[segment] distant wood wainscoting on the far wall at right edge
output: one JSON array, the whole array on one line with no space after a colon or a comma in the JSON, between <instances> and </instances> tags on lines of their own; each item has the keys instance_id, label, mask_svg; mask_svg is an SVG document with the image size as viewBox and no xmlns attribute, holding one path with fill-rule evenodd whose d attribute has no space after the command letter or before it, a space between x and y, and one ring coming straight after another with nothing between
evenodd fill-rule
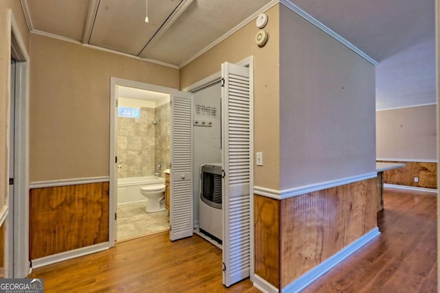
<instances>
[{"instance_id":1,"label":"distant wood wainscoting on the far wall at right edge","mask_svg":"<svg viewBox=\"0 0 440 293\"><path fill-rule=\"evenodd\" d=\"M384 172L384 183L437 189L437 163L377 161L384 163L403 163L405 167ZM419 182L414 182L414 178Z\"/></svg>"}]
</instances>

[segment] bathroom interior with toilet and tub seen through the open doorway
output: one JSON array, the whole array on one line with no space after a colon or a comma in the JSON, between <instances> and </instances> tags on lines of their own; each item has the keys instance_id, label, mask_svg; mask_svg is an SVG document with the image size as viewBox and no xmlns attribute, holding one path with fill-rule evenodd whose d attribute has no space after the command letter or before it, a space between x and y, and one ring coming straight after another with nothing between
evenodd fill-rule
<instances>
[{"instance_id":1,"label":"bathroom interior with toilet and tub seen through the open doorway","mask_svg":"<svg viewBox=\"0 0 440 293\"><path fill-rule=\"evenodd\" d=\"M170 96L118 86L116 153L118 242L169 230ZM141 188L153 190L146 197ZM148 191L151 192L152 191Z\"/></svg>"}]
</instances>

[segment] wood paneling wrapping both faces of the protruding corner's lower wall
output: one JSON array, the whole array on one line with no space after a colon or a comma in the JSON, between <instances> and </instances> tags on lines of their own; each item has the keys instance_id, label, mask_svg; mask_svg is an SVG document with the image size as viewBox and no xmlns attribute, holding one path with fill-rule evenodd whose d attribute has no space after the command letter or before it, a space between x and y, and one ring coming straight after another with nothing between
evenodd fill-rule
<instances>
[{"instance_id":1,"label":"wood paneling wrapping both faces of the protruding corner's lower wall","mask_svg":"<svg viewBox=\"0 0 440 293\"><path fill-rule=\"evenodd\" d=\"M377 226L376 178L254 198L255 272L280 290Z\"/></svg>"}]
</instances>

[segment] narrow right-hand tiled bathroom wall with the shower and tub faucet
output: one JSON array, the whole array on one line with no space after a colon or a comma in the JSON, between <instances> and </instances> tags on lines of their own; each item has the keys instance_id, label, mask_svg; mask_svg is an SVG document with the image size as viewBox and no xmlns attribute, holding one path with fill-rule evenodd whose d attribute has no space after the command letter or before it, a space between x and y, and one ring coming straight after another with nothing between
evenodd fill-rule
<instances>
[{"instance_id":1,"label":"narrow right-hand tiled bathroom wall with the shower and tub faucet","mask_svg":"<svg viewBox=\"0 0 440 293\"><path fill-rule=\"evenodd\" d=\"M155 110L157 124L155 126L155 165L162 163L162 171L168 169L171 163L171 106L166 103ZM165 177L162 172L162 177Z\"/></svg>"}]
</instances>

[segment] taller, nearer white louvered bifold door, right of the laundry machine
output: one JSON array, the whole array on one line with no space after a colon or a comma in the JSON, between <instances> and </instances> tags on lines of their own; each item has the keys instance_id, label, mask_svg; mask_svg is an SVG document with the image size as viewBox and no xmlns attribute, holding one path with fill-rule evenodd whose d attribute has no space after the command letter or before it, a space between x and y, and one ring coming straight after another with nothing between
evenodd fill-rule
<instances>
[{"instance_id":1,"label":"taller, nearer white louvered bifold door, right of the laundry machine","mask_svg":"<svg viewBox=\"0 0 440 293\"><path fill-rule=\"evenodd\" d=\"M223 284L250 276L251 115L248 67L228 62L223 78Z\"/></svg>"}]
</instances>

